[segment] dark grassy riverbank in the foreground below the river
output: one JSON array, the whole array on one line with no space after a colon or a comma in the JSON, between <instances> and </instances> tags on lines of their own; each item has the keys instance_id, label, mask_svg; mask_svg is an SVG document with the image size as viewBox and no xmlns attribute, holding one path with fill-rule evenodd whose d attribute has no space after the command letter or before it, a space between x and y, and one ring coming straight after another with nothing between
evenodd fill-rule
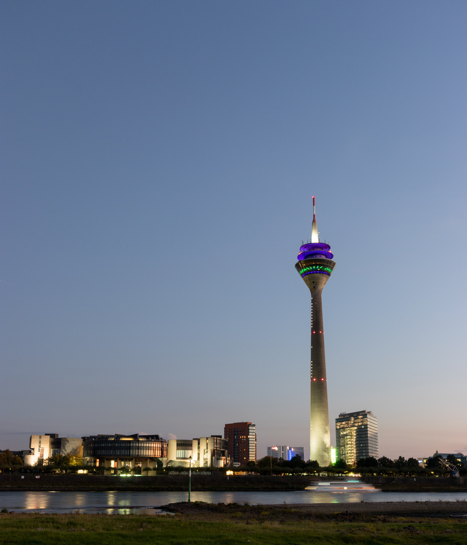
<instances>
[{"instance_id":1,"label":"dark grassy riverbank in the foreground below the river","mask_svg":"<svg viewBox=\"0 0 467 545\"><path fill-rule=\"evenodd\" d=\"M443 504L444 509L440 512L438 505L434 506L434 511L431 507L428 511L420 509L414 511L411 505L416 504L407 503L404 510L396 512L393 512L392 508L385 512L383 507L367 512L360 504L354 504L354 510L349 511L351 505L328 505L321 510L321 506L316 504L313 507L237 504L216 506L195 502L173 505L174 516L2 513L0 543L5 545L467 543L467 519L462 517L464 507L462 505ZM454 517L450 517L449 514L453 513ZM441 516L429 518L427 516L429 514Z\"/></svg>"}]
</instances>

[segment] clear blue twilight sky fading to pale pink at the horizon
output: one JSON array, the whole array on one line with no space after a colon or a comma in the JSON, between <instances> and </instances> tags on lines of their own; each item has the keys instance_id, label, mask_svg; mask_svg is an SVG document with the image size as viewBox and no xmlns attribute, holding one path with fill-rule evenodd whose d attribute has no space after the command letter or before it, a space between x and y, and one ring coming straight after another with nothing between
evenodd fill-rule
<instances>
[{"instance_id":1,"label":"clear blue twilight sky fading to pale pink at the horizon","mask_svg":"<svg viewBox=\"0 0 467 545\"><path fill-rule=\"evenodd\" d=\"M4 0L0 449L309 446L310 238L331 443L467 452L467 3ZM305 452L306 452L305 451Z\"/></svg>"}]
</instances>

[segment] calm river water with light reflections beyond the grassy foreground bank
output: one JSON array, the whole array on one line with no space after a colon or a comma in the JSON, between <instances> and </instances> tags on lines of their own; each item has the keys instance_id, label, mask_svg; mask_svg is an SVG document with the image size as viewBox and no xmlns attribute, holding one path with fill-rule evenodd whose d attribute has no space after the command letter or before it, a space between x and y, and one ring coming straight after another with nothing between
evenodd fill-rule
<instances>
[{"instance_id":1,"label":"calm river water with light reflections beyond the grassy foreground bank","mask_svg":"<svg viewBox=\"0 0 467 545\"><path fill-rule=\"evenodd\" d=\"M0 508L60 513L154 513L153 507L187 501L186 492L0 492ZM192 492L191 501L239 504L355 503L374 501L467 501L457 492Z\"/></svg>"}]
</instances>

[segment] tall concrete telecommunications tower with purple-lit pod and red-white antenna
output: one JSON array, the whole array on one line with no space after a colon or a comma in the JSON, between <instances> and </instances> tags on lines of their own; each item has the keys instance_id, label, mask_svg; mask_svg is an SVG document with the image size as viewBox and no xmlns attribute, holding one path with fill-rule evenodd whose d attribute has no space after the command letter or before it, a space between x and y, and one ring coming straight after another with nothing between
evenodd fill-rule
<instances>
[{"instance_id":1,"label":"tall concrete telecommunications tower with purple-lit pod and red-white antenna","mask_svg":"<svg viewBox=\"0 0 467 545\"><path fill-rule=\"evenodd\" d=\"M331 463L329 409L327 408L326 359L321 293L336 263L331 246L319 241L313 197L311 241L300 247L295 269L311 292L311 358L310 358L310 459L321 467Z\"/></svg>"}]
</instances>

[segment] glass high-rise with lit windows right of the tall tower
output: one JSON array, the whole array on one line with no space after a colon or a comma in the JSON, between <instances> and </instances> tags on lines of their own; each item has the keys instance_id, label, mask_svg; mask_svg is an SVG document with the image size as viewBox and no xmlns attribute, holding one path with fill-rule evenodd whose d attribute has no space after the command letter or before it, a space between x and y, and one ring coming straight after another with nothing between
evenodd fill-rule
<instances>
[{"instance_id":1,"label":"glass high-rise with lit windows right of the tall tower","mask_svg":"<svg viewBox=\"0 0 467 545\"><path fill-rule=\"evenodd\" d=\"M354 465L357 460L378 458L378 420L368 410L341 413L336 418L337 459Z\"/></svg>"}]
</instances>

